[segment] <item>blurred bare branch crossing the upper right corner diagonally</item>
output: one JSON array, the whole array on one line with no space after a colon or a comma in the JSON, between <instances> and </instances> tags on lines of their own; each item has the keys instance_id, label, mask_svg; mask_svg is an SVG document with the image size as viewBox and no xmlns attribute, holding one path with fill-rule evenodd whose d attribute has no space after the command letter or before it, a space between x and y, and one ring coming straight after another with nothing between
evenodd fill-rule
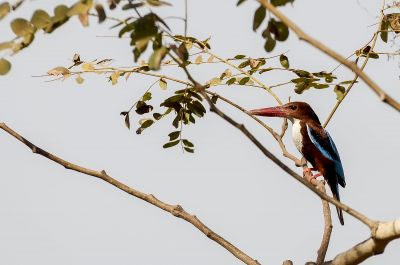
<instances>
[{"instance_id":1,"label":"blurred bare branch crossing the upper right corner diagonally","mask_svg":"<svg viewBox=\"0 0 400 265\"><path fill-rule=\"evenodd\" d=\"M281 13L274 5L272 5L267 0L257 0L262 6L268 9L272 14L274 14L277 18L279 18L282 22L284 22L290 29L296 33L296 35L301 39L315 48L319 49L323 53L332 57L336 61L345 65L347 68L352 70L356 75L358 75L382 100L387 103L397 111L400 111L400 103L397 102L394 98L389 96L385 91L383 91L368 75L366 75L355 63L346 60L343 56L333 51L329 47L325 46L323 43L317 41L316 39L309 36L305 33L300 27L298 27L293 21L291 21L288 17L286 17L283 13Z\"/></svg>"}]
</instances>

